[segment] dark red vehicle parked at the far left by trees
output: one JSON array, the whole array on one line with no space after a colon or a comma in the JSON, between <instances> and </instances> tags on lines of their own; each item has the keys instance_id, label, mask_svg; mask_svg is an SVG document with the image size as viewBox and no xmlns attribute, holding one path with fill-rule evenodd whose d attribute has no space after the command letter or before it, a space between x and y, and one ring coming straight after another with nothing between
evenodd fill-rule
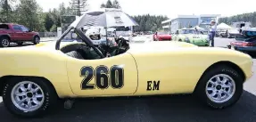
<instances>
[{"instance_id":1,"label":"dark red vehicle parked at the far left by trees","mask_svg":"<svg viewBox=\"0 0 256 122\"><path fill-rule=\"evenodd\" d=\"M22 25L0 23L0 47L8 47L10 43L22 45L24 42L40 43L39 34Z\"/></svg>"}]
</instances>

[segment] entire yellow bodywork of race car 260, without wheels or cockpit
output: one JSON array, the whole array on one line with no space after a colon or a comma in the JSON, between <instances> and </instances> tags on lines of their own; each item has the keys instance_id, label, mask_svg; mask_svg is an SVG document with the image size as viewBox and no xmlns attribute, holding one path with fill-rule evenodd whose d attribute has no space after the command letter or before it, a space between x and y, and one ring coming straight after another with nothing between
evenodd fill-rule
<instances>
[{"instance_id":1,"label":"entire yellow bodywork of race car 260, without wheels or cockpit","mask_svg":"<svg viewBox=\"0 0 256 122\"><path fill-rule=\"evenodd\" d=\"M246 78L252 77L252 58L249 55L217 47L153 42L131 45L127 53L91 61L74 59L60 51L41 47L0 49L0 77L45 77L60 97L192 93L202 73L219 61L233 62L244 71ZM113 88L109 73L114 65L123 69L124 84L119 88ZM107 69L107 74L98 73L107 76L100 78L108 81L107 87L102 89L95 85L95 70L99 66ZM94 71L88 80L94 88L81 89L81 84L88 77L87 73L81 75L82 68Z\"/></svg>"}]
</instances>

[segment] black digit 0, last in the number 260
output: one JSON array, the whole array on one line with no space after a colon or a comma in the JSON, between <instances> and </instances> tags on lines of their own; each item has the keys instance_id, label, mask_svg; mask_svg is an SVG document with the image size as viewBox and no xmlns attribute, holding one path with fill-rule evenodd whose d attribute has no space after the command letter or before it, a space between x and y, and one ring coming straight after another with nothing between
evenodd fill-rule
<instances>
[{"instance_id":1,"label":"black digit 0, last in the number 260","mask_svg":"<svg viewBox=\"0 0 256 122\"><path fill-rule=\"evenodd\" d=\"M111 86L113 88L122 88L124 85L124 70L119 66L111 67Z\"/></svg>"}]
</instances>

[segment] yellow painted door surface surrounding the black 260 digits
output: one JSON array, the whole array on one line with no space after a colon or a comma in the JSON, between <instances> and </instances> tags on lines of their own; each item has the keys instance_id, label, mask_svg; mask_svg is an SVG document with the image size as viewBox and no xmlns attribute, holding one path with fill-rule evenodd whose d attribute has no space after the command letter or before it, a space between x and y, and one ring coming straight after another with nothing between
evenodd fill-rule
<instances>
[{"instance_id":1,"label":"yellow painted door surface surrounding the black 260 digits","mask_svg":"<svg viewBox=\"0 0 256 122\"><path fill-rule=\"evenodd\" d=\"M121 88L112 88L110 83L111 74L108 73L108 86L107 88L101 89L94 86L94 89L81 90L81 82L85 77L81 77L80 70L83 67L91 67L94 71L99 66L107 68L110 72L110 69L114 65L119 65L123 69L124 84ZM70 79L70 86L74 94L79 96L95 96L95 95L127 95L134 94L137 88L137 69L136 61L129 53L120 54L118 56L105 58L102 60L77 60L69 58L67 61L68 76ZM95 85L95 75L92 77L88 84Z\"/></svg>"}]
</instances>

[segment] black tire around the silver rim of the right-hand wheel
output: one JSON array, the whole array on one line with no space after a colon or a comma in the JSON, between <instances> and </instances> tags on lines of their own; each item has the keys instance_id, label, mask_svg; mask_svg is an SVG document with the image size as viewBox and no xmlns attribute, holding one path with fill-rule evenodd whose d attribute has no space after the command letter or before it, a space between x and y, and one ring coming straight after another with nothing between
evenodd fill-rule
<instances>
[{"instance_id":1,"label":"black tire around the silver rim of the right-hand wheel","mask_svg":"<svg viewBox=\"0 0 256 122\"><path fill-rule=\"evenodd\" d=\"M234 79L235 81L235 92L233 95L231 95L231 98L227 99L226 102L213 102L206 94L207 83L209 82L211 77L214 77L219 74L225 74L231 77L232 79ZM210 106L212 109L221 110L234 105L235 102L239 100L241 94L243 94L243 91L244 91L243 83L244 83L243 78L240 76L240 74L237 73L237 71L235 71L235 69L232 69L225 65L219 65L218 67L204 73L198 85L196 85L194 94L198 96L199 100L202 103Z\"/></svg>"}]
</instances>

